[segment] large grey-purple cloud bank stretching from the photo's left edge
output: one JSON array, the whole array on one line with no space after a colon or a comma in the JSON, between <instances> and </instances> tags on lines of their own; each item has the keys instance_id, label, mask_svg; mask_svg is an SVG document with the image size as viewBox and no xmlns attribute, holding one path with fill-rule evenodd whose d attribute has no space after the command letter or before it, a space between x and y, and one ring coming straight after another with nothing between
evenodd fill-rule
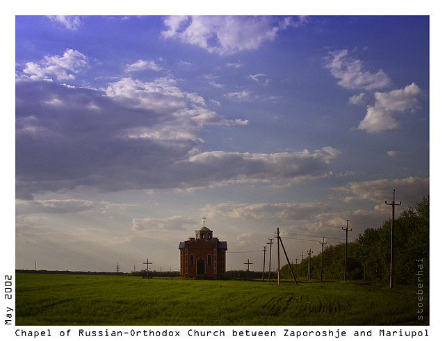
<instances>
[{"instance_id":1,"label":"large grey-purple cloud bank stretching from the photo's left edge","mask_svg":"<svg viewBox=\"0 0 445 341\"><path fill-rule=\"evenodd\" d=\"M65 59L65 69L76 69L77 63ZM205 126L248 122L207 109L203 97L184 92L172 78L147 82L125 77L104 89L43 78L19 77L16 82L17 199L81 188L115 192L227 183L286 185L327 176L339 153L332 147L202 153L197 142L204 143Z\"/></svg>"}]
</instances>

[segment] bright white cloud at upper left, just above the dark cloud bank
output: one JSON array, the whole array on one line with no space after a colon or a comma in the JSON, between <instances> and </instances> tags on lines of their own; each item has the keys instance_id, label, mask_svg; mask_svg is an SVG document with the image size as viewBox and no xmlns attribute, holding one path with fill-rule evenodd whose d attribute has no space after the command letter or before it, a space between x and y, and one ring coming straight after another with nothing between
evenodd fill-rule
<instances>
[{"instance_id":1,"label":"bright white cloud at upper left, just above the dark cloud bank","mask_svg":"<svg viewBox=\"0 0 445 341\"><path fill-rule=\"evenodd\" d=\"M26 63L22 76L35 81L51 80L51 78L64 81L74 79L74 74L83 71L86 67L88 67L88 58L83 53L67 49L63 56L45 56L40 63Z\"/></svg>"}]
</instances>

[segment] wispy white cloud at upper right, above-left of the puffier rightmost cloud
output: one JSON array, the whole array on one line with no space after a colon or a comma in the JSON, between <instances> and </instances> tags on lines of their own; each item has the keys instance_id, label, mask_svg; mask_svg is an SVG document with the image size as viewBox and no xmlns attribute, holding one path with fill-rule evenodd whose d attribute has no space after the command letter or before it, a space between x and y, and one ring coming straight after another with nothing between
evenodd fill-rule
<instances>
[{"instance_id":1,"label":"wispy white cloud at upper right, above-left of the puffier rightmost cloud","mask_svg":"<svg viewBox=\"0 0 445 341\"><path fill-rule=\"evenodd\" d=\"M326 67L332 76L339 78L339 85L348 89L376 90L385 88L390 81L382 70L375 74L364 71L360 60L350 58L348 50L330 52Z\"/></svg>"}]
</instances>

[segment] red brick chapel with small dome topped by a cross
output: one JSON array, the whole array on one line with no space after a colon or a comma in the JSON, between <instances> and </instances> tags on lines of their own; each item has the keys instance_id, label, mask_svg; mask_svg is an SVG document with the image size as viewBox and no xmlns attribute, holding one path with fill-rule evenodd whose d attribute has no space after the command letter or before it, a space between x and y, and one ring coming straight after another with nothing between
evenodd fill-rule
<instances>
[{"instance_id":1,"label":"red brick chapel with small dome topped by a cross","mask_svg":"<svg viewBox=\"0 0 445 341\"><path fill-rule=\"evenodd\" d=\"M195 231L195 237L179 243L181 252L181 277L224 278L227 242L213 237L213 231L205 226Z\"/></svg>"}]
</instances>

